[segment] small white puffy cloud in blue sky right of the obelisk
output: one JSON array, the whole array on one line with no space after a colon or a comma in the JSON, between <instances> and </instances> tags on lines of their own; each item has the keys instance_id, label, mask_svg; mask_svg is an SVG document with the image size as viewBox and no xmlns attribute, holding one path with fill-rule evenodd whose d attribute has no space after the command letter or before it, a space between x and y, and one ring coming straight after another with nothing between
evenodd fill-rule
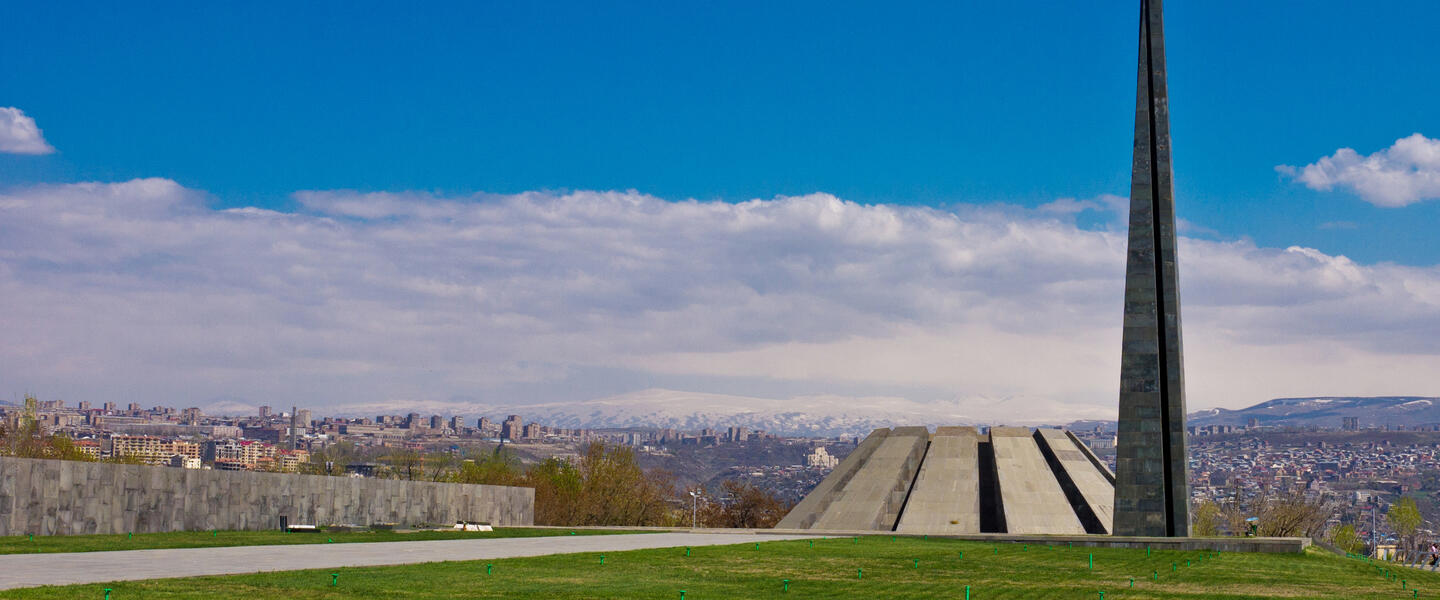
<instances>
[{"instance_id":1,"label":"small white puffy cloud in blue sky right of the obelisk","mask_svg":"<svg viewBox=\"0 0 1440 600\"><path fill-rule=\"evenodd\" d=\"M1440 199L1440 140L1413 134L1371 155L1341 148L1305 167L1279 165L1276 171L1312 190L1342 187L1375 206L1408 206Z\"/></svg>"}]
</instances>

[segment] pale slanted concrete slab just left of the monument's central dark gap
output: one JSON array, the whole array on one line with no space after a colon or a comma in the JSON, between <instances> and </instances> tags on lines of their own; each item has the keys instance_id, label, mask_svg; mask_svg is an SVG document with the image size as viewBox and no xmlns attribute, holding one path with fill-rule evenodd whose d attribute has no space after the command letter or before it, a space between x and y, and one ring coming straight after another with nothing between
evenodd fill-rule
<instances>
[{"instance_id":1,"label":"pale slanted concrete slab just left of the monument's central dark gap","mask_svg":"<svg viewBox=\"0 0 1440 600\"><path fill-rule=\"evenodd\" d=\"M924 534L981 531L978 445L979 432L975 427L935 430L896 531Z\"/></svg>"}]
</instances>

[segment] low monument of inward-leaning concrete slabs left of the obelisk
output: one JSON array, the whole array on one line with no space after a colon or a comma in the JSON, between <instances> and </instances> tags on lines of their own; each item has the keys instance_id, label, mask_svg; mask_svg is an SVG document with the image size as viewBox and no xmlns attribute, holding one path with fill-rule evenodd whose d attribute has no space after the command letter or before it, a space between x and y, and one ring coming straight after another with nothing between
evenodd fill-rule
<instances>
[{"instance_id":1,"label":"low monument of inward-leaning concrete slabs left of the obelisk","mask_svg":"<svg viewBox=\"0 0 1440 600\"><path fill-rule=\"evenodd\" d=\"M1073 433L877 429L776 525L901 534L1109 534L1115 475Z\"/></svg>"}]
</instances>

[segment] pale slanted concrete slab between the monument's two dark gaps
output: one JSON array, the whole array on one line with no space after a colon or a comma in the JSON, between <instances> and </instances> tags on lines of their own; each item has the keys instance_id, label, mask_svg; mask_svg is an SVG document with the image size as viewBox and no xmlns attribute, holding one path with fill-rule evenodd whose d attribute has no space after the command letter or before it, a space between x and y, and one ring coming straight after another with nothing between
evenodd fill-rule
<instances>
[{"instance_id":1,"label":"pale slanted concrete slab between the monument's two dark gaps","mask_svg":"<svg viewBox=\"0 0 1440 600\"><path fill-rule=\"evenodd\" d=\"M995 471L1005 531L1009 534L1084 534L1084 525L1056 481L1027 427L992 427Z\"/></svg>"}]
</instances>

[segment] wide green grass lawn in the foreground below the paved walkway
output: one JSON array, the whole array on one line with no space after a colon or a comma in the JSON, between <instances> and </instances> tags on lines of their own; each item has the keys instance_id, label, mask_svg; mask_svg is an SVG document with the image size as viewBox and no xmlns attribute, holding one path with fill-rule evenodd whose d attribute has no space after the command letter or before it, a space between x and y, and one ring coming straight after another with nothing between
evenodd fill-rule
<instances>
[{"instance_id":1,"label":"wide green grass lawn in the foreground below the paved walkway","mask_svg":"<svg viewBox=\"0 0 1440 600\"><path fill-rule=\"evenodd\" d=\"M963 555L962 555L963 553ZM1090 567L1090 555L1094 567ZM487 564L492 571L487 573ZM1440 599L1440 574L1306 554L863 537L42 587L0 599ZM331 586L331 573L338 584ZM1158 580L1156 577L1158 576ZM1130 578L1135 578L1133 588ZM1401 588L1418 587L1418 596ZM785 590L783 580L789 580Z\"/></svg>"}]
</instances>

